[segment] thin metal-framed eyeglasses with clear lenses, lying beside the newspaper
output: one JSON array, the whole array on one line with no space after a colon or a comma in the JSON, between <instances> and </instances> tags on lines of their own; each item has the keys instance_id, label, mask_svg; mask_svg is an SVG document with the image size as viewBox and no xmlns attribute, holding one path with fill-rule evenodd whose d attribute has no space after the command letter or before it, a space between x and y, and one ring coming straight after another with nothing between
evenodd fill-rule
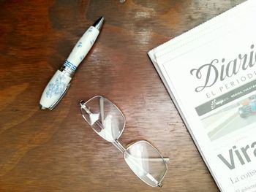
<instances>
[{"instance_id":1,"label":"thin metal-framed eyeglasses with clear lenses, lying beside the newspaper","mask_svg":"<svg viewBox=\"0 0 256 192\"><path fill-rule=\"evenodd\" d=\"M163 158L159 151L145 140L132 143L125 148L118 142L124 131L125 118L122 112L103 96L94 96L80 101L83 118L100 137L111 142L124 155L132 171L151 187L162 187L169 158Z\"/></svg>"}]
</instances>

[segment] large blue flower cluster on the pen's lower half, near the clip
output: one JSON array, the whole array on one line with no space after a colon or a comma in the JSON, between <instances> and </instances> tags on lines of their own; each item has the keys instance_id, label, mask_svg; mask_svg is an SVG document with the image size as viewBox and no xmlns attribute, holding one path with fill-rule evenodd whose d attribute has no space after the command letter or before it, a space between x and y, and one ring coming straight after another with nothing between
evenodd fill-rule
<instances>
[{"instance_id":1,"label":"large blue flower cluster on the pen's lower half, near the clip","mask_svg":"<svg viewBox=\"0 0 256 192\"><path fill-rule=\"evenodd\" d=\"M56 77L55 82L50 83L48 85L48 89L46 91L46 97L51 98L52 96L58 96L61 95L65 88L67 87L66 83L64 83L64 80L66 79L66 77L64 76L64 74L59 74Z\"/></svg>"}]
</instances>

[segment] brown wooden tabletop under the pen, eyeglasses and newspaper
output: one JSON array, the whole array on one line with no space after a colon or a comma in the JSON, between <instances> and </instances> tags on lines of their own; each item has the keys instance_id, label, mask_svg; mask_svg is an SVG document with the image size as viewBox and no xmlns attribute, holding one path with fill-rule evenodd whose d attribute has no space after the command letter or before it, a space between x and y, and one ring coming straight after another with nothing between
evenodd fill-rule
<instances>
[{"instance_id":1,"label":"brown wooden tabletop under the pen, eyeglasses and newspaper","mask_svg":"<svg viewBox=\"0 0 256 192\"><path fill-rule=\"evenodd\" d=\"M170 157L159 191L218 191L147 52L244 0L0 1L0 191L156 191L85 123L102 95L127 120L120 142ZM105 24L64 99L39 110L50 77L100 15Z\"/></svg>"}]
</instances>

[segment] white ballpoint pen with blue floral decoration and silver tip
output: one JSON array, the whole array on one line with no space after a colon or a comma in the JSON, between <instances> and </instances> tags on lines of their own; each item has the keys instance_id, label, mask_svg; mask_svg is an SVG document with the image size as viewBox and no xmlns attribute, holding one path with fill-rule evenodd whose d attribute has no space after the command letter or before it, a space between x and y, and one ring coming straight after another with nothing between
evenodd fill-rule
<instances>
[{"instance_id":1,"label":"white ballpoint pen with blue floral decoration and silver tip","mask_svg":"<svg viewBox=\"0 0 256 192\"><path fill-rule=\"evenodd\" d=\"M100 17L92 26L90 26L83 36L78 40L69 57L61 66L61 69L53 75L40 99L40 107L42 110L53 110L56 104L63 98L64 94L70 86L70 81L75 73L78 65L94 45L95 40L102 28L103 17Z\"/></svg>"}]
</instances>

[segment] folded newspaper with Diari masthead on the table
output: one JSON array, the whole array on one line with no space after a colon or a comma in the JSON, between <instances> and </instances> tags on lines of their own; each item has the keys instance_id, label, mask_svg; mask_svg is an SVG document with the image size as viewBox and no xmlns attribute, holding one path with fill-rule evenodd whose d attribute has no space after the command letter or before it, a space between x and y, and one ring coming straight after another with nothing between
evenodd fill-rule
<instances>
[{"instance_id":1,"label":"folded newspaper with Diari masthead on the table","mask_svg":"<svg viewBox=\"0 0 256 192\"><path fill-rule=\"evenodd\" d=\"M256 1L148 52L221 191L256 191Z\"/></svg>"}]
</instances>

